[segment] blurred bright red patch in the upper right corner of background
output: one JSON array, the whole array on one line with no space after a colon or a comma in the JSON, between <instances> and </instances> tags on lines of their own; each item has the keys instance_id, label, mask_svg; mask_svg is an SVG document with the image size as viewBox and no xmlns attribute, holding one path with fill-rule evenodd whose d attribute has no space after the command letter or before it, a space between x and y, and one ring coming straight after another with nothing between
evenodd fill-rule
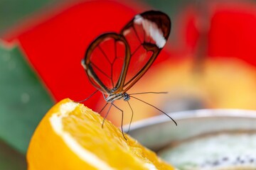
<instances>
[{"instance_id":1,"label":"blurred bright red patch in the upper right corner of background","mask_svg":"<svg viewBox=\"0 0 256 170\"><path fill-rule=\"evenodd\" d=\"M256 66L256 4L206 1L203 7L200 13L190 6L180 16L183 49L195 52L199 36L206 31L206 56L237 57Z\"/></svg>"}]
</instances>

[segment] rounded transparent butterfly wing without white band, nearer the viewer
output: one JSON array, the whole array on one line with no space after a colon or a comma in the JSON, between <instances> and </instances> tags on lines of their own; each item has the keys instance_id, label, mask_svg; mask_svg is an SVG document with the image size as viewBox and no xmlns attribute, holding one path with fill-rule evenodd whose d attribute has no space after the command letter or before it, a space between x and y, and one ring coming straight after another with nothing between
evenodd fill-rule
<instances>
[{"instance_id":1,"label":"rounded transparent butterfly wing without white band, nearer the viewer","mask_svg":"<svg viewBox=\"0 0 256 170\"><path fill-rule=\"evenodd\" d=\"M82 65L96 89L105 94L114 94L122 91L129 55L124 36L105 33L90 44Z\"/></svg>"}]
</instances>

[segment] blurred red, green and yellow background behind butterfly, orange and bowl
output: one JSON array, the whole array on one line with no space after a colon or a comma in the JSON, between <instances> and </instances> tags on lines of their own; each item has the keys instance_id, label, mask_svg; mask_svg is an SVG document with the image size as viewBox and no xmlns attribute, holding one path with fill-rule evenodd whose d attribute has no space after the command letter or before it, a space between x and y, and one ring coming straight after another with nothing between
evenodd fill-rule
<instances>
[{"instance_id":1,"label":"blurred red, green and yellow background behind butterfly, orange and bowl","mask_svg":"<svg viewBox=\"0 0 256 170\"><path fill-rule=\"evenodd\" d=\"M171 35L128 93L168 91L138 96L166 113L256 109L256 1L0 0L0 169L26 169L31 135L54 103L95 91L80 65L90 42L151 9L170 16ZM130 103L133 122L161 114ZM100 111L105 101L98 93L85 105ZM117 106L129 123L128 104ZM121 124L114 108L107 119Z\"/></svg>"}]
</instances>

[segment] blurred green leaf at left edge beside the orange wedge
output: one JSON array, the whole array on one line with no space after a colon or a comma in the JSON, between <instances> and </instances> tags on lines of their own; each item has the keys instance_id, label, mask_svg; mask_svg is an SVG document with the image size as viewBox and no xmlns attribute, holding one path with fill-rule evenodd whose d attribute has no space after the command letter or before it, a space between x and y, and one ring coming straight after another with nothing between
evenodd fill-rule
<instances>
[{"instance_id":1,"label":"blurred green leaf at left edge beside the orange wedge","mask_svg":"<svg viewBox=\"0 0 256 170\"><path fill-rule=\"evenodd\" d=\"M0 43L0 139L26 154L33 131L53 106L17 45Z\"/></svg>"}]
</instances>

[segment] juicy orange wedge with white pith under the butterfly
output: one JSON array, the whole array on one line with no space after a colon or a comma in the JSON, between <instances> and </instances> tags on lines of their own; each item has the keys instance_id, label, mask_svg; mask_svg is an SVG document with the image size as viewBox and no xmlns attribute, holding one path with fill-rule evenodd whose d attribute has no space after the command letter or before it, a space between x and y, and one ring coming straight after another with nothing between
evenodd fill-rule
<instances>
[{"instance_id":1,"label":"juicy orange wedge with white pith under the butterfly","mask_svg":"<svg viewBox=\"0 0 256 170\"><path fill-rule=\"evenodd\" d=\"M66 98L48 111L31 138L29 170L174 169L154 152L80 103Z\"/></svg>"}]
</instances>

